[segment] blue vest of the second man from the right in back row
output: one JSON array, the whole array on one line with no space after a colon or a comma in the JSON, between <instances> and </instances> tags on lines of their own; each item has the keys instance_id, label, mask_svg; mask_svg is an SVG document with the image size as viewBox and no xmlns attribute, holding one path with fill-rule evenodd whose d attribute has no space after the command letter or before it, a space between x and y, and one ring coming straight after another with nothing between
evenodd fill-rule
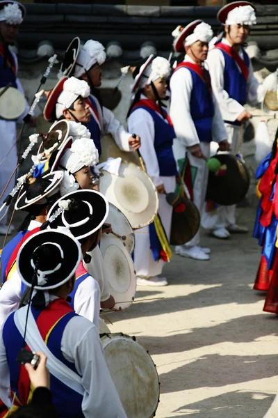
<instances>
[{"instance_id":1,"label":"blue vest of the second man from the right in back row","mask_svg":"<svg viewBox=\"0 0 278 418\"><path fill-rule=\"evenodd\" d=\"M180 71L181 68L177 68L177 71ZM214 116L213 96L197 72L188 67L186 69L190 71L193 79L193 89L190 96L190 114L197 130L199 141L211 142L213 139L212 128Z\"/></svg>"}]
</instances>

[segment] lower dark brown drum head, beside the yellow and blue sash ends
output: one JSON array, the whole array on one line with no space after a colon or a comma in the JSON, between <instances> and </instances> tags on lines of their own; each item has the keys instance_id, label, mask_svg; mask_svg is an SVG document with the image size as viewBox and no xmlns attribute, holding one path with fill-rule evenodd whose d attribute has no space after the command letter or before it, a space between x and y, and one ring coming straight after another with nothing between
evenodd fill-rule
<instances>
[{"instance_id":1,"label":"lower dark brown drum head, beside the yellow and blue sash ends","mask_svg":"<svg viewBox=\"0 0 278 418\"><path fill-rule=\"evenodd\" d=\"M186 196L181 196L181 203L186 206L183 212L172 212L171 245L183 245L192 240L199 231L201 217L197 206Z\"/></svg>"}]
</instances>

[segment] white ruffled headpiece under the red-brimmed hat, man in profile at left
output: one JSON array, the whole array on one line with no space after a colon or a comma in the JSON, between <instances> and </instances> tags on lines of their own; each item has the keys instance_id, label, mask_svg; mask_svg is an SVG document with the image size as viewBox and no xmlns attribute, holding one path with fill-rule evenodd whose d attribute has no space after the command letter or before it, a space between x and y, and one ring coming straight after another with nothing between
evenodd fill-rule
<instances>
[{"instance_id":1,"label":"white ruffled headpiece under the red-brimmed hat, man in profile at left","mask_svg":"<svg viewBox=\"0 0 278 418\"><path fill-rule=\"evenodd\" d=\"M89 94L90 86L87 82L75 77L67 79L63 85L63 91L56 102L56 118L60 118L63 115L63 110L68 109L79 96L88 98Z\"/></svg>"}]
</instances>

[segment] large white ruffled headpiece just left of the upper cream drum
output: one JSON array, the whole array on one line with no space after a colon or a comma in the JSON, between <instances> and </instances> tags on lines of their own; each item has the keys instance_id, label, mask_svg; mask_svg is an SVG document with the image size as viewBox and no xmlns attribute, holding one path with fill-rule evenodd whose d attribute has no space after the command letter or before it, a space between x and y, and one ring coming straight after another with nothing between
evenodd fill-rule
<instances>
[{"instance_id":1,"label":"large white ruffled headpiece just left of the upper cream drum","mask_svg":"<svg viewBox=\"0 0 278 418\"><path fill-rule=\"evenodd\" d=\"M60 160L60 166L74 174L83 167L92 167L99 162L99 153L92 139L76 139Z\"/></svg>"}]
</instances>

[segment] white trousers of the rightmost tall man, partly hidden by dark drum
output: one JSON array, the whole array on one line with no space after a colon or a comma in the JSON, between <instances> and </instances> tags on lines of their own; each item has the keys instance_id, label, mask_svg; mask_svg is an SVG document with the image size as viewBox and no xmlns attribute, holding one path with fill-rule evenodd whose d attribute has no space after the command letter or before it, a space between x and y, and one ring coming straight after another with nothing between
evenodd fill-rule
<instances>
[{"instance_id":1,"label":"white trousers of the rightmost tall man, partly hidden by dark drum","mask_svg":"<svg viewBox=\"0 0 278 418\"><path fill-rule=\"evenodd\" d=\"M228 141L231 144L232 153L238 153L240 146L240 127L225 123ZM227 228L236 224L236 205L219 206L216 210L202 212L202 227L205 229Z\"/></svg>"}]
</instances>

